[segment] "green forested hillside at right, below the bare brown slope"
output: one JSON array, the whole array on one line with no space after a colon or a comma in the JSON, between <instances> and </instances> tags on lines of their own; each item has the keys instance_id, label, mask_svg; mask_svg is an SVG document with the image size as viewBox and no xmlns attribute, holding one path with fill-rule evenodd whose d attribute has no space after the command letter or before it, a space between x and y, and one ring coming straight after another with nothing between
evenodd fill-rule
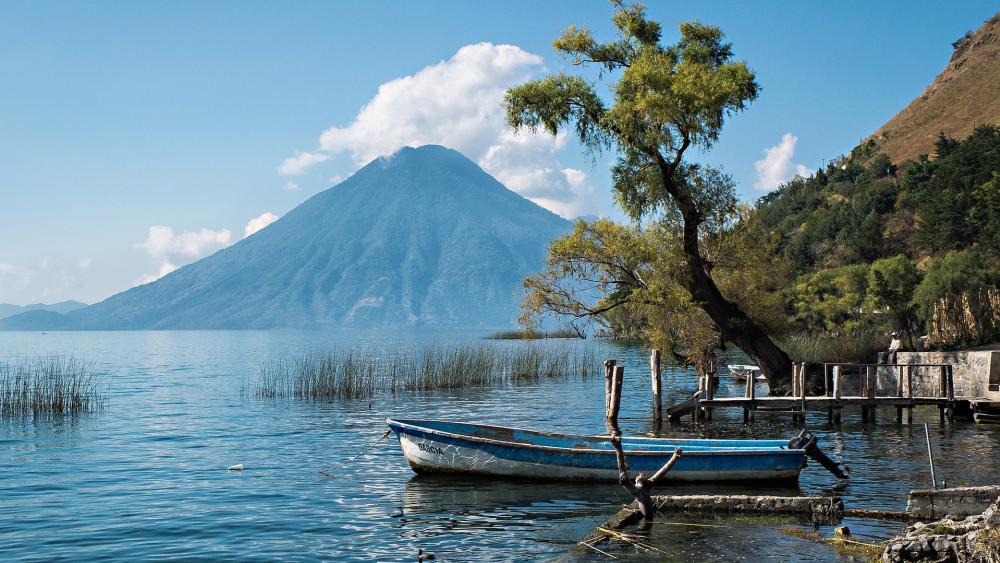
<instances>
[{"instance_id":1,"label":"green forested hillside at right, below the bare brown slope","mask_svg":"<svg viewBox=\"0 0 1000 563\"><path fill-rule=\"evenodd\" d=\"M932 346L1000 336L1000 127L935 148L897 165L869 140L758 202L796 276L800 329L899 329Z\"/></svg>"}]
</instances>

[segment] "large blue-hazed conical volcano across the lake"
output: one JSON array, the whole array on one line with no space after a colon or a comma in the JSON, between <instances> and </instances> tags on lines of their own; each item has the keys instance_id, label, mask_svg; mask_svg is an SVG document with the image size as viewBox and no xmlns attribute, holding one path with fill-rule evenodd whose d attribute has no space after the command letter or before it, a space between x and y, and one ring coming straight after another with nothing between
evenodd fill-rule
<instances>
[{"instance_id":1,"label":"large blue-hazed conical volcano across the lake","mask_svg":"<svg viewBox=\"0 0 1000 563\"><path fill-rule=\"evenodd\" d=\"M67 326L509 326L521 280L568 228L456 151L403 148L232 246L66 315Z\"/></svg>"}]
</instances>

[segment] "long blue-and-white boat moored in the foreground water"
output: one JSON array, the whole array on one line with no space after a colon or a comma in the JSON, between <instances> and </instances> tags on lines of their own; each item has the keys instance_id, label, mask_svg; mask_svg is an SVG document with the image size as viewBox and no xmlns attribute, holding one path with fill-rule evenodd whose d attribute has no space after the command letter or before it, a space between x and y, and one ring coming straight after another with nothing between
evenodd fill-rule
<instances>
[{"instance_id":1,"label":"long blue-and-white boat moored in the foreground water","mask_svg":"<svg viewBox=\"0 0 1000 563\"><path fill-rule=\"evenodd\" d=\"M417 473L618 480L615 450L608 436L441 420L390 418L386 423ZM810 438L815 450L815 438ZM809 446L799 447L801 442L795 440L622 437L621 446L629 468L647 475L656 472L676 448L681 448L683 453L666 475L667 481L795 481L805 467L806 456L811 456Z\"/></svg>"}]
</instances>

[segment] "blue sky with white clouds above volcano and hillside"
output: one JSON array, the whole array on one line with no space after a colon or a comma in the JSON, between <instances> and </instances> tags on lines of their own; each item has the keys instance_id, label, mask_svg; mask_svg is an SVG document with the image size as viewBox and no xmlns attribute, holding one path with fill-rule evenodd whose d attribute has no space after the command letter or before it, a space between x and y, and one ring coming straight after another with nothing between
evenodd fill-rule
<instances>
[{"instance_id":1,"label":"blue sky with white clouds above volcano and hillside","mask_svg":"<svg viewBox=\"0 0 1000 563\"><path fill-rule=\"evenodd\" d=\"M965 2L647 2L717 25L762 87L692 155L754 201L855 146L997 9ZM0 0L0 303L100 301L287 213L400 146L455 148L567 218L619 217L613 155L515 135L506 88L575 72L592 1Z\"/></svg>"}]
</instances>

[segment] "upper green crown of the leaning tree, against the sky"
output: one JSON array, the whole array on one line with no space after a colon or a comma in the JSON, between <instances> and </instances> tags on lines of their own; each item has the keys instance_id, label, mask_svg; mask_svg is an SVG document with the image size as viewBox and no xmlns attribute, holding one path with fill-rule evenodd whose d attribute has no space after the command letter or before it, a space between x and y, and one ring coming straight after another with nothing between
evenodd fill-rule
<instances>
[{"instance_id":1,"label":"upper green crown of the leaning tree, against the sky","mask_svg":"<svg viewBox=\"0 0 1000 563\"><path fill-rule=\"evenodd\" d=\"M573 64L598 66L612 99L605 103L581 77L556 74L511 88L508 122L553 134L572 125L584 145L613 146L616 197L632 217L669 214L674 205L708 216L712 210L699 204L714 201L705 188L718 182L705 176L717 173L683 164L683 155L692 145L710 147L725 118L757 97L754 74L732 60L717 27L686 22L680 40L663 45L660 24L646 19L641 5L615 6L618 39L598 43L589 30L573 26L553 42Z\"/></svg>"}]
</instances>

